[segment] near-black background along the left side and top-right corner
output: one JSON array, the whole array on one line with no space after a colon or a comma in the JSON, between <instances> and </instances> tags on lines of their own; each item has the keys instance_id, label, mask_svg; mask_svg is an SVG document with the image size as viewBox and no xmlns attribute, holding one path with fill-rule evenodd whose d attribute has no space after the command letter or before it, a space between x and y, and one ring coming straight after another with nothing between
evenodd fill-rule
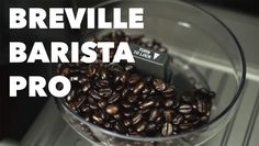
<instances>
[{"instance_id":1,"label":"near-black background along the left side and top-right corner","mask_svg":"<svg viewBox=\"0 0 259 146\"><path fill-rule=\"evenodd\" d=\"M104 0L102 0L104 1ZM94 5L100 0L80 0L78 3L88 3L88 7ZM230 9L250 15L259 15L258 0L193 0L224 9ZM53 8L53 7L71 7L72 1L68 0L3 0L0 9L0 141L2 138L12 138L20 141L26 133L30 125L35 120L47 98L30 98L26 90L19 92L16 98L9 97L9 76L29 75L44 76L46 80L50 77L50 67L45 64L20 64L9 65L9 42L22 41L27 47L35 41L50 42L64 41L69 42L77 38L77 32L71 30L9 30L9 8ZM86 4L85 4L86 5ZM47 46L46 46L47 48Z\"/></svg>"}]
</instances>

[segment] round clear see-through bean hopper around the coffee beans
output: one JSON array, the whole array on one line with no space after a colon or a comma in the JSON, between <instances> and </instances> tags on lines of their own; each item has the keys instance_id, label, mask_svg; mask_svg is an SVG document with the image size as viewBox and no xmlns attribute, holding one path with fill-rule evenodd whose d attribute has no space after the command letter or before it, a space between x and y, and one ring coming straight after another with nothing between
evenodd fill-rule
<instances>
[{"instance_id":1,"label":"round clear see-through bean hopper around the coffee beans","mask_svg":"<svg viewBox=\"0 0 259 146\"><path fill-rule=\"evenodd\" d=\"M75 3L78 8L87 7ZM209 123L192 132L167 137L131 136L104 130L70 111L64 99L56 99L63 117L78 134L93 145L182 146L204 144L226 126L240 101L246 63L237 38L222 21L181 0L112 0L95 8L106 8L109 12L122 8L122 20L127 20L128 8L144 8L145 29L123 31L161 42L174 58L172 68L178 67L179 74L195 79L198 86L210 87L216 91L216 97L212 101ZM81 29L82 41L106 31L111 30Z\"/></svg>"}]
</instances>

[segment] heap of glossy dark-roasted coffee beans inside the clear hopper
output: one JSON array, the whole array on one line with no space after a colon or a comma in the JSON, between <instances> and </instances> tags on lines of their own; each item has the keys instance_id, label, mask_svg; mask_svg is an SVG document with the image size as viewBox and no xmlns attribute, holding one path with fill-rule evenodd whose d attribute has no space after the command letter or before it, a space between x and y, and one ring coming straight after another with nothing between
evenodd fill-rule
<instances>
[{"instance_id":1,"label":"heap of glossy dark-roasted coffee beans inside the clear hopper","mask_svg":"<svg viewBox=\"0 0 259 146\"><path fill-rule=\"evenodd\" d=\"M122 31L95 41L127 41L167 52L156 41ZM215 97L215 92L195 87L180 96L173 83L143 75L127 63L59 64L57 71L71 81L66 97L70 110L88 122L125 135L170 136L193 131L209 122Z\"/></svg>"}]
</instances>

